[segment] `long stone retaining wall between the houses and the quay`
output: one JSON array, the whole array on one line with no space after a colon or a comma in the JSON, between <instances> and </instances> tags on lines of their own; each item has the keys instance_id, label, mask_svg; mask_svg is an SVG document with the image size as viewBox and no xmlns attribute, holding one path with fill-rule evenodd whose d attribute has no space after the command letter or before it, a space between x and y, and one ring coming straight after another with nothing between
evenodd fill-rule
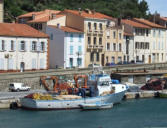
<instances>
[{"instance_id":1,"label":"long stone retaining wall between the houses and the quay","mask_svg":"<svg viewBox=\"0 0 167 128\"><path fill-rule=\"evenodd\" d=\"M166 70L167 63L158 64L138 64L138 65L118 65L114 67L103 67L103 70L111 74L113 72L133 72L133 71L145 71L145 70ZM10 83L22 82L32 89L41 89L40 77L41 76L58 76L60 79L73 79L75 74L90 74L92 73L92 68L83 69L50 69L34 72L15 72L15 73L0 73L0 91L8 91ZM138 76L137 80L141 80ZM125 80L126 81L126 80Z\"/></svg>"}]
</instances>

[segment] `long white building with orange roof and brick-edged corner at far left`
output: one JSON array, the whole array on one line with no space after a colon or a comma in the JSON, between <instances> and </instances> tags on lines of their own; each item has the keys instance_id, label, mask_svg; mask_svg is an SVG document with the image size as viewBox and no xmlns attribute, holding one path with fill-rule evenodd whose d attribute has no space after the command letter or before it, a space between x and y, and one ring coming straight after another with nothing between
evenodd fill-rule
<instances>
[{"instance_id":1,"label":"long white building with orange roof and brick-edged corner at far left","mask_svg":"<svg viewBox=\"0 0 167 128\"><path fill-rule=\"evenodd\" d=\"M48 69L48 36L25 24L0 23L0 72Z\"/></svg>"}]
</instances>

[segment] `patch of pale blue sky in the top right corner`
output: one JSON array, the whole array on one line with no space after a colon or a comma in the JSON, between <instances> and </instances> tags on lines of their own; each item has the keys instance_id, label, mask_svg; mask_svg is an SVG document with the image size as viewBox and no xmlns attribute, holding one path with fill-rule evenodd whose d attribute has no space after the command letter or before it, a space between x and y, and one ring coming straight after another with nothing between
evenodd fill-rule
<instances>
[{"instance_id":1,"label":"patch of pale blue sky in the top right corner","mask_svg":"<svg viewBox=\"0 0 167 128\"><path fill-rule=\"evenodd\" d=\"M145 0L149 5L151 13L157 11L161 16L167 17L167 0Z\"/></svg>"}]
</instances>

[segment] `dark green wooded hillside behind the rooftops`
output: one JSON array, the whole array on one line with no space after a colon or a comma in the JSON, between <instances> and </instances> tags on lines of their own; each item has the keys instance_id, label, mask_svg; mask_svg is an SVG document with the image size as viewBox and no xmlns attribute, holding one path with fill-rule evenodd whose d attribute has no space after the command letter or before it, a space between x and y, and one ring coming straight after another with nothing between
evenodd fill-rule
<instances>
[{"instance_id":1,"label":"dark green wooded hillside behind the rooftops","mask_svg":"<svg viewBox=\"0 0 167 128\"><path fill-rule=\"evenodd\" d=\"M4 5L6 22L12 22L21 14L44 9L89 8L121 18L146 18L149 10L145 0L4 0Z\"/></svg>"}]
</instances>

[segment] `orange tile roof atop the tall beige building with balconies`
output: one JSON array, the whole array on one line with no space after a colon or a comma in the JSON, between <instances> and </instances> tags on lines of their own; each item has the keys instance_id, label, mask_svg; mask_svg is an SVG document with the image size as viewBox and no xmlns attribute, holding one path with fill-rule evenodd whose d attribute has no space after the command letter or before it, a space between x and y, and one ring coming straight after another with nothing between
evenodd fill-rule
<instances>
[{"instance_id":1,"label":"orange tile roof atop the tall beige building with balconies","mask_svg":"<svg viewBox=\"0 0 167 128\"><path fill-rule=\"evenodd\" d=\"M93 12L90 11L90 13L86 12L86 11L77 11L77 10L64 10L64 12L68 12L68 13L72 13L78 16L81 16L83 18L93 18L93 19L111 19L113 20L114 18L104 15L102 13L99 12Z\"/></svg>"}]
</instances>

